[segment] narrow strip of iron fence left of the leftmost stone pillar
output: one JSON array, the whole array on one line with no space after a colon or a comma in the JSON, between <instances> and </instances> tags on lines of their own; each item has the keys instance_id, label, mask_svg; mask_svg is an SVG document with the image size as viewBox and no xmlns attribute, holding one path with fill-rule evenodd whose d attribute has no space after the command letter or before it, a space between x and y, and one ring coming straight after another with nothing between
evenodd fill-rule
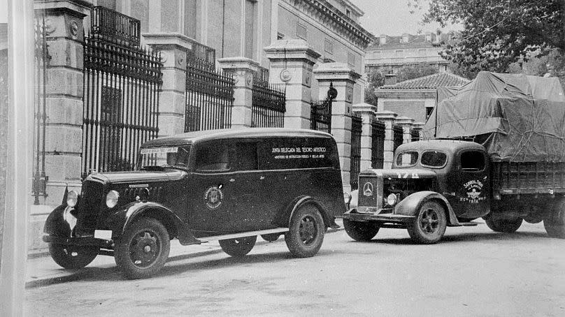
<instances>
[{"instance_id":1,"label":"narrow strip of iron fence left of the leftmost stone pillar","mask_svg":"<svg viewBox=\"0 0 565 317\"><path fill-rule=\"evenodd\" d=\"M45 17L37 18L34 22L34 70L35 70L35 101L34 101L34 205L39 205L39 196L47 197L47 181L45 175L45 124L47 112L45 109L47 84L47 65L51 59L45 38Z\"/></svg>"}]
</instances>

